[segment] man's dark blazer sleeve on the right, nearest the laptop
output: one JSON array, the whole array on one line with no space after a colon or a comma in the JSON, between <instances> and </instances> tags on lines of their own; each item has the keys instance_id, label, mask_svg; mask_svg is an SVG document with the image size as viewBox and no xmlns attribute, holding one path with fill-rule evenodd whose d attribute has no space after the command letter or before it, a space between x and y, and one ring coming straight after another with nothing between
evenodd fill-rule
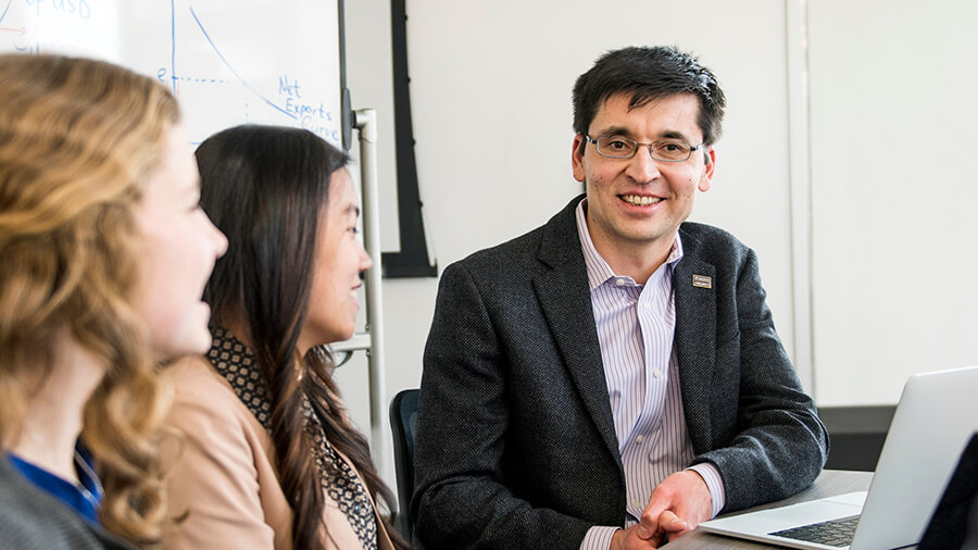
<instances>
[{"instance_id":1,"label":"man's dark blazer sleeve on the right, nearest the laptop","mask_svg":"<svg viewBox=\"0 0 978 550\"><path fill-rule=\"evenodd\" d=\"M775 332L756 255L744 250L735 288L736 328L716 353L720 372L738 373L739 380L726 379L714 392L736 407L730 409L736 424L729 438L716 435L718 448L694 461L716 464L726 512L794 495L815 480L828 455L828 435L815 403ZM723 368L723 361L737 367Z\"/></svg>"}]
</instances>

